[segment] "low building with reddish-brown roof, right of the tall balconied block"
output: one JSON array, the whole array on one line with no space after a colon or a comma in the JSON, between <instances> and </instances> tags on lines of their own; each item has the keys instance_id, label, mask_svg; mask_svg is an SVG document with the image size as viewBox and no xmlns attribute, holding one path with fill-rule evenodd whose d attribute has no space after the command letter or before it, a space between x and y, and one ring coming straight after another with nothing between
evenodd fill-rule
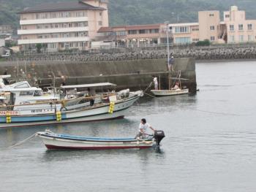
<instances>
[{"instance_id":1,"label":"low building with reddish-brown roof, right of the tall balconied block","mask_svg":"<svg viewBox=\"0 0 256 192\"><path fill-rule=\"evenodd\" d=\"M116 42L118 47L145 47L166 43L166 25L115 26L99 28L96 41Z\"/></svg>"}]
</instances>

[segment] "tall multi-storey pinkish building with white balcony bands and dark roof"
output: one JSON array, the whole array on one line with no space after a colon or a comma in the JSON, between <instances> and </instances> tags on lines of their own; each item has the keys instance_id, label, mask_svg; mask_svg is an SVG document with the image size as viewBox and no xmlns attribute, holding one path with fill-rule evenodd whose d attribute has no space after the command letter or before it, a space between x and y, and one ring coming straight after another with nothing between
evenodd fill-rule
<instances>
[{"instance_id":1,"label":"tall multi-storey pinkish building with white balcony bands and dark roof","mask_svg":"<svg viewBox=\"0 0 256 192\"><path fill-rule=\"evenodd\" d=\"M108 0L41 4L20 12L21 50L87 50L102 26L108 26Z\"/></svg>"}]
</instances>

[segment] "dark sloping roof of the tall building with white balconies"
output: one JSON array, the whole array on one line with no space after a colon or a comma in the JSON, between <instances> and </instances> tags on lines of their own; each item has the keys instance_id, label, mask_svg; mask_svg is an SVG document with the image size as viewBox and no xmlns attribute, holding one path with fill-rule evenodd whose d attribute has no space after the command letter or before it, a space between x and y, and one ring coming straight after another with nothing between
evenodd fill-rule
<instances>
[{"instance_id":1,"label":"dark sloping roof of the tall building with white balconies","mask_svg":"<svg viewBox=\"0 0 256 192\"><path fill-rule=\"evenodd\" d=\"M67 10L81 10L81 9L96 9L105 10L102 7L94 7L90 4L86 4L82 1L69 1L69 2L57 2L57 3L47 3L39 4L35 7L27 7L19 13L29 13L29 12L58 12Z\"/></svg>"}]
</instances>

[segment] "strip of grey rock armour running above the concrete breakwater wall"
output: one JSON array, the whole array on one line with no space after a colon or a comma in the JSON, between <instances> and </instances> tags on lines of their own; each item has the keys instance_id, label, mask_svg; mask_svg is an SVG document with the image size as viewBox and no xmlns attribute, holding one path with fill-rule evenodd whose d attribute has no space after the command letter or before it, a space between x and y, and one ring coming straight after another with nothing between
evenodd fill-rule
<instances>
[{"instance_id":1,"label":"strip of grey rock armour running above the concrete breakwater wall","mask_svg":"<svg viewBox=\"0 0 256 192\"><path fill-rule=\"evenodd\" d=\"M174 49L170 53L175 58L195 58L196 60L254 59L256 47L218 47ZM167 58L166 50L137 50L120 53L45 53L12 55L8 61L124 61L135 59Z\"/></svg>"}]
</instances>

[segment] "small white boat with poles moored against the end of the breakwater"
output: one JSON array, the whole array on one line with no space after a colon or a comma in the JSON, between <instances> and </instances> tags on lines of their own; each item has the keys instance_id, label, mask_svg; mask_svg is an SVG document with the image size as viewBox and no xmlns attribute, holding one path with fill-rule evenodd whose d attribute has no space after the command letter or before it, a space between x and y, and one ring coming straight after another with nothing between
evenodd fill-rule
<instances>
[{"instance_id":1,"label":"small white boat with poles moored against the end of the breakwater","mask_svg":"<svg viewBox=\"0 0 256 192\"><path fill-rule=\"evenodd\" d=\"M188 88L182 88L181 86L181 71L178 72L177 77L175 78L176 85L171 85L171 77L169 75L169 89L162 90L161 84L159 83L158 90L151 90L151 92L155 96L176 96L176 95L183 95L189 93Z\"/></svg>"}]
</instances>

